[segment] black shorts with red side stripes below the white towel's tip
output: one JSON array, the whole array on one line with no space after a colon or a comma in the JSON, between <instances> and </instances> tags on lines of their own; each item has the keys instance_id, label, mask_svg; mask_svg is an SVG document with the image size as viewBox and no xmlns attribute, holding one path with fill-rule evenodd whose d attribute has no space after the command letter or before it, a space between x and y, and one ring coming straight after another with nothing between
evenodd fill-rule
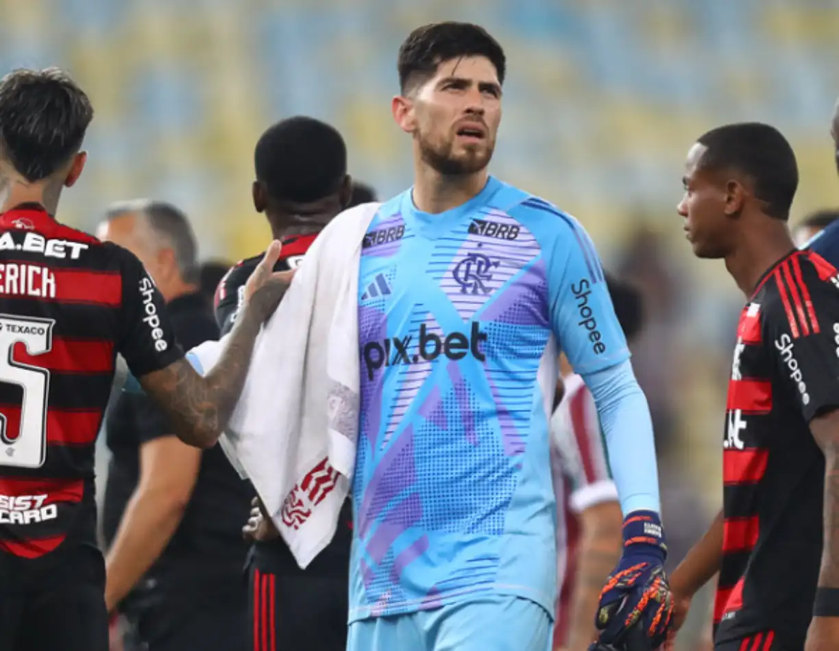
<instances>
[{"instance_id":1,"label":"black shorts with red side stripes below the white towel's tip","mask_svg":"<svg viewBox=\"0 0 839 651\"><path fill-rule=\"evenodd\" d=\"M248 568L248 651L344 651L347 576Z\"/></svg>"}]
</instances>

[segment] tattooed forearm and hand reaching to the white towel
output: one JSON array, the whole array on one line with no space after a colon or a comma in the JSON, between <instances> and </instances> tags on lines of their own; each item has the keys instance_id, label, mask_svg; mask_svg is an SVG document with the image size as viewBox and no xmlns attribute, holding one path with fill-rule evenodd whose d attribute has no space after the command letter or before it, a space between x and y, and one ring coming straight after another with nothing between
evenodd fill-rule
<instances>
[{"instance_id":1,"label":"tattooed forearm and hand reaching to the white towel","mask_svg":"<svg viewBox=\"0 0 839 651\"><path fill-rule=\"evenodd\" d=\"M236 408L248 375L253 344L293 275L272 272L277 258L279 242L274 242L248 279L246 303L211 372L201 377L190 362L180 359L138 378L143 390L169 415L180 440L188 445L215 445Z\"/></svg>"}]
</instances>

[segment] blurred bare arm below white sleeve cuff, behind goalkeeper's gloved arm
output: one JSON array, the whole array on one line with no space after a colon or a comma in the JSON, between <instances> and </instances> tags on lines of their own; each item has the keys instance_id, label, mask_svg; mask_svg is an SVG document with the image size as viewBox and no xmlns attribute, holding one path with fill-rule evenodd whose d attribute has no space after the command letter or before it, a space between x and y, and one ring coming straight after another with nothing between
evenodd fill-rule
<instances>
[{"instance_id":1,"label":"blurred bare arm below white sleeve cuff, behind goalkeeper's gloved arm","mask_svg":"<svg viewBox=\"0 0 839 651\"><path fill-rule=\"evenodd\" d=\"M588 648L595 638L592 612L597 612L600 592L621 556L623 513L618 501L594 504L580 513L582 534L576 557L574 594L571 596L571 630L568 648Z\"/></svg>"}]
</instances>

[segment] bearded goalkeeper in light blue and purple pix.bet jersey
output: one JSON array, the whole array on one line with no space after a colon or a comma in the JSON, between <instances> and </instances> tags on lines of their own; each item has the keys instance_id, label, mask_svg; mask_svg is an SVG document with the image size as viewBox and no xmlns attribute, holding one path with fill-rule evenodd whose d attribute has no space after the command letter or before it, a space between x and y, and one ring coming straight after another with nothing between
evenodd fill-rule
<instances>
[{"instance_id":1,"label":"bearded goalkeeper in light blue and purple pix.bet jersey","mask_svg":"<svg viewBox=\"0 0 839 651\"><path fill-rule=\"evenodd\" d=\"M415 180L362 247L350 651L550 647L560 350L597 403L625 516L601 640L653 647L670 620L652 424L600 260L573 217L487 174L504 73L472 24L399 50Z\"/></svg>"}]
</instances>

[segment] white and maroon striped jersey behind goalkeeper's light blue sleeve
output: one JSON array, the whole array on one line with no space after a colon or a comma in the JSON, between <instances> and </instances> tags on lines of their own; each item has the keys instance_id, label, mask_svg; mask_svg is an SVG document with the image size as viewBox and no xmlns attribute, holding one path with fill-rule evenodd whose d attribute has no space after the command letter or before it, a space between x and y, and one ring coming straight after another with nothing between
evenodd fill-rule
<instances>
[{"instance_id":1,"label":"white and maroon striped jersey behind goalkeeper's light blue sleeve","mask_svg":"<svg viewBox=\"0 0 839 651\"><path fill-rule=\"evenodd\" d=\"M557 615L555 646L564 646L574 591L575 555L580 537L579 513L603 502L618 501L603 446L594 398L579 375L563 378L565 395L550 419L550 462L556 493Z\"/></svg>"}]
</instances>

